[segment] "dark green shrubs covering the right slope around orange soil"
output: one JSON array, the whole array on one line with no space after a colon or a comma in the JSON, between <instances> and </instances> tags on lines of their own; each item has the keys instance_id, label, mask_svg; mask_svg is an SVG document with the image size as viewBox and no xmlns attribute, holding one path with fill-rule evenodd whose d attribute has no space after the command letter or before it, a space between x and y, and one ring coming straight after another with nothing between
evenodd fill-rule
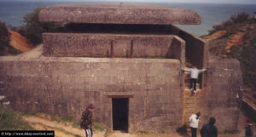
<instances>
[{"instance_id":1,"label":"dark green shrubs covering the right slope around orange soil","mask_svg":"<svg viewBox=\"0 0 256 137\"><path fill-rule=\"evenodd\" d=\"M256 90L256 20L246 13L234 14L230 17L230 20L213 26L210 34L216 31L226 31L226 34L210 41L210 52L219 57L239 60L245 86ZM227 39L230 35L241 31L246 32L242 42L233 46L230 53L227 52L225 49Z\"/></svg>"}]
</instances>

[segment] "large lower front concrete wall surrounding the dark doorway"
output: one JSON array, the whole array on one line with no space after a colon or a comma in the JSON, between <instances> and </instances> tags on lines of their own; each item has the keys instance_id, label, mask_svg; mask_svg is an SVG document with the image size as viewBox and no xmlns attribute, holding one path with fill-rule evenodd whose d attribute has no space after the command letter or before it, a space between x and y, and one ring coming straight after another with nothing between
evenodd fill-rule
<instances>
[{"instance_id":1,"label":"large lower front concrete wall surrounding the dark doorway","mask_svg":"<svg viewBox=\"0 0 256 137\"><path fill-rule=\"evenodd\" d=\"M0 94L21 111L80 118L89 103L111 128L108 95L133 95L130 131L181 126L180 62L169 59L0 58Z\"/></svg>"}]
</instances>

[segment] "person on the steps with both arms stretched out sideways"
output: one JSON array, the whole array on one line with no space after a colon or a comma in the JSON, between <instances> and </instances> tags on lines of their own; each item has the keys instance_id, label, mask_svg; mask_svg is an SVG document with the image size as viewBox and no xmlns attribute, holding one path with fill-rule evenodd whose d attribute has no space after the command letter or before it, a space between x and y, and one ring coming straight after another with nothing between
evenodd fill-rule
<instances>
[{"instance_id":1,"label":"person on the steps with both arms stretched out sideways","mask_svg":"<svg viewBox=\"0 0 256 137\"><path fill-rule=\"evenodd\" d=\"M193 93L196 92L196 83L198 79L198 75L206 71L206 69L197 69L195 66L193 68L185 68L184 71L189 71L190 74L190 89L193 90Z\"/></svg>"}]
</instances>

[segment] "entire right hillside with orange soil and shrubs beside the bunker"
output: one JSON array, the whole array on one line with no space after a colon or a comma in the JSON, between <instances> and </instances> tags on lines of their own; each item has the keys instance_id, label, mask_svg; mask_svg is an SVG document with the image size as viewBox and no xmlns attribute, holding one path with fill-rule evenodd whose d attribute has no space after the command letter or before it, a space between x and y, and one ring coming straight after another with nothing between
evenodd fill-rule
<instances>
[{"instance_id":1,"label":"entire right hillside with orange soil and shrubs beside the bunker","mask_svg":"<svg viewBox=\"0 0 256 137\"><path fill-rule=\"evenodd\" d=\"M256 20L233 22L202 38L209 42L210 53L220 58L235 58L240 61L245 86L242 95L245 104L241 109L256 123L256 117L253 116L256 114Z\"/></svg>"}]
</instances>

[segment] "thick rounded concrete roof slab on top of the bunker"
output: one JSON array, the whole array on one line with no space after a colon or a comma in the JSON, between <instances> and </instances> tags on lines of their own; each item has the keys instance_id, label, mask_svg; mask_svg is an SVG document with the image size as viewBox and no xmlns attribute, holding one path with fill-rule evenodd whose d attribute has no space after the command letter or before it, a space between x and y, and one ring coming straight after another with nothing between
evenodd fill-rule
<instances>
[{"instance_id":1,"label":"thick rounded concrete roof slab on top of the bunker","mask_svg":"<svg viewBox=\"0 0 256 137\"><path fill-rule=\"evenodd\" d=\"M44 8L39 20L61 23L199 25L193 10L136 4L70 4Z\"/></svg>"}]
</instances>

